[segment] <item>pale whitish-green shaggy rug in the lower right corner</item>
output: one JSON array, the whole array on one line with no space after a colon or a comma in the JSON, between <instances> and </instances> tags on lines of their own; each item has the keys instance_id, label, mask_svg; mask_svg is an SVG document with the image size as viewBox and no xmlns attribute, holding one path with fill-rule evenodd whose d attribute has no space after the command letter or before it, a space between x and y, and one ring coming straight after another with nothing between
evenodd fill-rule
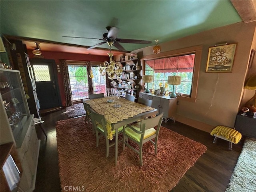
<instances>
[{"instance_id":1,"label":"pale whitish-green shaggy rug in the lower right corner","mask_svg":"<svg viewBox=\"0 0 256 192\"><path fill-rule=\"evenodd\" d=\"M256 191L256 139L246 138L226 192Z\"/></svg>"}]
</instances>

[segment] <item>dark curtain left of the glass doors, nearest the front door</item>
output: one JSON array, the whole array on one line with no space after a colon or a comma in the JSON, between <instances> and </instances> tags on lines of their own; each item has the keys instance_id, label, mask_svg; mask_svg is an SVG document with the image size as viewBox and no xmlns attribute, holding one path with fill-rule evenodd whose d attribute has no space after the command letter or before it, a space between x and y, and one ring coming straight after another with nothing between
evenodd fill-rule
<instances>
[{"instance_id":1,"label":"dark curtain left of the glass doors, nearest the front door","mask_svg":"<svg viewBox=\"0 0 256 192\"><path fill-rule=\"evenodd\" d=\"M66 60L61 60L62 69L63 69L63 81L64 81L64 91L65 91L65 100L66 106L71 106L72 102L72 93L70 88L70 80L68 74L68 65Z\"/></svg>"}]
</instances>

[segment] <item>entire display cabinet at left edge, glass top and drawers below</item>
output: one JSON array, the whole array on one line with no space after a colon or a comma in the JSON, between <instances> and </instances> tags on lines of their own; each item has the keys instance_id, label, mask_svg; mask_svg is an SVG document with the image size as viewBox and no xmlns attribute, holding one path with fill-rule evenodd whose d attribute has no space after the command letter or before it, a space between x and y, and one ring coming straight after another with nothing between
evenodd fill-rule
<instances>
[{"instance_id":1,"label":"entire display cabinet at left edge, glass top and drawers below","mask_svg":"<svg viewBox=\"0 0 256 192\"><path fill-rule=\"evenodd\" d=\"M18 191L32 192L36 182L40 147L33 121L34 114L30 114L18 70L0 68L0 85L1 145L14 142L23 170Z\"/></svg>"}]
</instances>

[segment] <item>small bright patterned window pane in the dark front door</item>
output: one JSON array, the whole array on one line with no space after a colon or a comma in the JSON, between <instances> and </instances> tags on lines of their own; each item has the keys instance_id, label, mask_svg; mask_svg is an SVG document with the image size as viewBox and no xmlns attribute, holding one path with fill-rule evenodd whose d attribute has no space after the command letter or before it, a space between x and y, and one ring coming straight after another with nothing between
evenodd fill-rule
<instances>
[{"instance_id":1,"label":"small bright patterned window pane in the dark front door","mask_svg":"<svg viewBox=\"0 0 256 192\"><path fill-rule=\"evenodd\" d=\"M50 71L48 65L33 65L36 82L50 81Z\"/></svg>"}]
</instances>

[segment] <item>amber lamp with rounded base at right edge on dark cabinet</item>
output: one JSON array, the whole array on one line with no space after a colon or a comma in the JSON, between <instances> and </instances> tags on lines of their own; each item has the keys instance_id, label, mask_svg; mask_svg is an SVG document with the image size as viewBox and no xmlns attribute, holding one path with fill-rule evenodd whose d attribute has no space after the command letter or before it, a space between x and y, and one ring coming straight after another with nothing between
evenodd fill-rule
<instances>
[{"instance_id":1,"label":"amber lamp with rounded base at right edge on dark cabinet","mask_svg":"<svg viewBox=\"0 0 256 192\"><path fill-rule=\"evenodd\" d=\"M244 86L244 89L255 90L254 96L244 104L248 107L250 112L256 112L256 75L250 77Z\"/></svg>"}]
</instances>

